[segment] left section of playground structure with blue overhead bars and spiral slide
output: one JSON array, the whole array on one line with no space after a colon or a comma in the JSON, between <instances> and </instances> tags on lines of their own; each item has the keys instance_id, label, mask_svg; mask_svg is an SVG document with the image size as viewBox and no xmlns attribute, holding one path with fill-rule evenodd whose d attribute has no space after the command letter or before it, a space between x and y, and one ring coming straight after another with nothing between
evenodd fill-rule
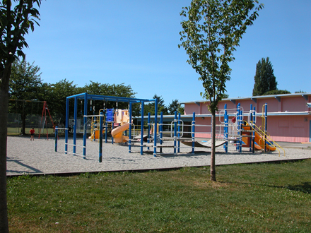
<instances>
[{"instance_id":1,"label":"left section of playground structure with blue overhead bars and spiral slide","mask_svg":"<svg viewBox=\"0 0 311 233\"><path fill-rule=\"evenodd\" d=\"M73 143L68 143L68 131L69 131L69 101L71 99L74 99L74 138ZM77 133L77 119L78 119L78 100L83 100L83 145L77 145L76 144L76 133ZM100 110L100 114L98 115L88 115L88 103L90 103L90 109L92 110L92 101L100 101L103 104L102 110ZM110 109L111 114L108 116L108 112L110 110L105 109L105 102L115 102L115 109ZM127 102L129 109L127 111L122 110L119 112L118 109L118 102ZM98 122L99 119L99 130L93 130L98 131L99 135L99 161L102 162L102 132L105 128L105 134L107 135L107 124L112 124L114 122L114 117L112 117L114 114L117 114L117 121L120 122L121 126L114 128L114 124L112 124L112 143L113 141L117 141L119 143L122 143L124 141L127 141L127 137L123 136L123 132L127 131L127 129L131 129L134 124L132 124L132 104L140 104L141 106L141 143L143 143L143 107L146 102L155 102L155 112L158 112L158 100L146 100L146 99L136 99L136 98L129 98L129 97L113 97L113 96L105 96L105 95L90 95L88 93L81 93L78 95L72 95L66 98L66 126L65 126L65 153L72 153L73 155L79 155L76 153L76 147L81 146L83 148L83 154L80 155L83 158L86 158L86 127L87 127L87 118L92 117L93 118L93 124L94 122ZM94 105L95 108L95 105ZM82 111L81 111L82 112ZM95 109L93 109L93 112L95 112ZM120 113L120 114L119 114ZM105 115L104 115L105 114ZM120 115L120 116L119 116ZM105 118L105 126L104 124L104 117ZM112 119L109 119L107 117L112 117ZM118 120L119 117L119 120ZM157 117L155 114L155 122L157 121ZM119 129L118 129L119 128ZM95 127L94 127L95 129ZM56 128L56 134L57 134L57 128ZM156 136L157 131L155 129L154 135ZM115 136L115 138L113 138ZM131 153L131 130L129 130L129 136L128 136L128 144L129 144L129 153ZM93 134L93 139L96 138L96 133ZM107 137L106 137L106 143L107 143ZM155 141L156 143L156 141ZM73 151L69 152L68 146L73 145ZM57 148L57 147L56 147ZM141 147L141 153L143 153L142 147ZM156 154L156 144L154 146L154 154Z\"/></svg>"}]
</instances>

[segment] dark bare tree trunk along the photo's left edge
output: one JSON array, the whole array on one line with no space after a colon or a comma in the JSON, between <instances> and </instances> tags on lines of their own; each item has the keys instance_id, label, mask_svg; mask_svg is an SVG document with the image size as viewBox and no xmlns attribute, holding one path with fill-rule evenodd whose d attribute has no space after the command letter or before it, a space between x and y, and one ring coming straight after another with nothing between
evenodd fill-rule
<instances>
[{"instance_id":1,"label":"dark bare tree trunk along the photo's left edge","mask_svg":"<svg viewBox=\"0 0 311 233\"><path fill-rule=\"evenodd\" d=\"M9 74L8 74L9 77ZM0 232L8 232L8 206L6 201L6 144L8 123L8 78L0 88Z\"/></svg>"}]
</instances>

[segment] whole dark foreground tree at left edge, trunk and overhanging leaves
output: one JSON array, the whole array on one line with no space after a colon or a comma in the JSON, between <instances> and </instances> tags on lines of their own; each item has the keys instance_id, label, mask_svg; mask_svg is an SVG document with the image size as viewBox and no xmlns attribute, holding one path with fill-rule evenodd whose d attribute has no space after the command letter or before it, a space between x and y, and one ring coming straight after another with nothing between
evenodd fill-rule
<instances>
[{"instance_id":1,"label":"whole dark foreground tree at left edge, trunk and overhanging leaves","mask_svg":"<svg viewBox=\"0 0 311 233\"><path fill-rule=\"evenodd\" d=\"M14 6L13 6L14 2ZM6 203L6 135L8 122L8 88L11 66L17 56L25 57L23 48L28 47L25 35L34 25L40 13L41 0L0 1L0 232L8 232Z\"/></svg>"}]
</instances>

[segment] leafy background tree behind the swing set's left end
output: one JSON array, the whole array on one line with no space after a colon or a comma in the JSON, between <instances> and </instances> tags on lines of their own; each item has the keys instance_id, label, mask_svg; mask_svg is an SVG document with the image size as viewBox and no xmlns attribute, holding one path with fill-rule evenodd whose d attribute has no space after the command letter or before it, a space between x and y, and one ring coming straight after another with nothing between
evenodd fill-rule
<instances>
[{"instance_id":1,"label":"leafy background tree behind the swing set's left end","mask_svg":"<svg viewBox=\"0 0 311 233\"><path fill-rule=\"evenodd\" d=\"M40 95L42 80L40 67L29 64L25 59L16 61L12 64L11 80L8 95L13 100L42 100ZM25 134L25 122L28 114L32 114L32 102L11 102L14 111L20 114L22 119L22 134Z\"/></svg>"}]
</instances>

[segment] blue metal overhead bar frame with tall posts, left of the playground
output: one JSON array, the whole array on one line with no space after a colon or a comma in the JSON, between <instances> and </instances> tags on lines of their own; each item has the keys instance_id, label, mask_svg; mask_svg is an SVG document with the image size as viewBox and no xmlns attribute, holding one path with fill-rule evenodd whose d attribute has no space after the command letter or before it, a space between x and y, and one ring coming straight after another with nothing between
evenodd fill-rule
<instances>
[{"instance_id":1,"label":"blue metal overhead bar frame with tall posts, left of the playground","mask_svg":"<svg viewBox=\"0 0 311 233\"><path fill-rule=\"evenodd\" d=\"M83 158L86 158L86 124L87 124L87 115L88 115L88 100L101 100L101 101L110 101L110 102L127 102L129 103L129 129L131 129L131 120L132 120L132 104L140 103L141 104L141 143L143 142L143 106L145 102L155 102L155 124L157 124L157 113L158 113L158 100L148 100L148 99L137 99L130 97L116 97L109 95L90 95L87 92L81 93L78 95L71 95L66 97L66 129L69 129L69 101L74 99L74 148L73 154L76 155L76 128L77 128L77 117L78 117L78 100L84 100L84 110L83 110ZM157 131L153 132L156 138ZM156 140L154 141L154 152L153 155L156 155ZM143 147L141 146L141 153ZM68 152L68 130L65 133L65 153ZM129 130L129 153L131 153L131 130Z\"/></svg>"}]
</instances>

